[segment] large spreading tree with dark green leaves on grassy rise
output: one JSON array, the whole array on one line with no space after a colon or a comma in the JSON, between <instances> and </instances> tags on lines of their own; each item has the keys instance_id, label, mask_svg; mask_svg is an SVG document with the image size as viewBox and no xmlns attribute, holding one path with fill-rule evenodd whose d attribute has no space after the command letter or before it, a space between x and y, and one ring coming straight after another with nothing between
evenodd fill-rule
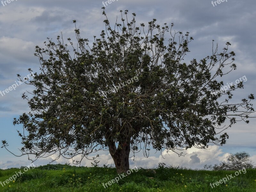
<instances>
[{"instance_id":1,"label":"large spreading tree with dark green leaves on grassy rise","mask_svg":"<svg viewBox=\"0 0 256 192\"><path fill-rule=\"evenodd\" d=\"M92 152L108 150L121 173L129 169L131 151L134 156L143 150L148 157L150 147L178 153L223 145L225 129L236 121L249 123L245 119L254 111L254 96L230 103L231 92L243 88L243 82L212 94L223 85L216 78L236 69L229 42L223 52L212 45L211 56L186 64L193 40L188 32L173 33L173 23L160 27L156 19L137 27L136 14L128 22L127 13L121 11L121 23L111 27L103 7L106 30L90 44L76 28L77 45L68 38L74 54L62 34L57 43L48 38L45 48L36 46L41 72L27 81L35 87L32 98L22 96L31 111L13 121L23 124L23 132L18 131L22 155L79 156L73 159L79 164ZM226 66L230 70L225 73Z\"/></svg>"}]
</instances>

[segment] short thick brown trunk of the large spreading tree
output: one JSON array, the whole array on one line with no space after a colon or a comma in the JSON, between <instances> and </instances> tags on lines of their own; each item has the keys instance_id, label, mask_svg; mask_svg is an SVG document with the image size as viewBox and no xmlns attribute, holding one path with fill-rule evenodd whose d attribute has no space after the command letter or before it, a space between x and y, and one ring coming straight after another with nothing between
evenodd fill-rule
<instances>
[{"instance_id":1,"label":"short thick brown trunk of the large spreading tree","mask_svg":"<svg viewBox=\"0 0 256 192\"><path fill-rule=\"evenodd\" d=\"M109 153L112 156L114 163L116 165L117 173L127 172L130 168L129 166L129 155L130 155L130 140L126 143L119 144L119 147L116 148L115 142L112 142L109 146Z\"/></svg>"}]
</instances>

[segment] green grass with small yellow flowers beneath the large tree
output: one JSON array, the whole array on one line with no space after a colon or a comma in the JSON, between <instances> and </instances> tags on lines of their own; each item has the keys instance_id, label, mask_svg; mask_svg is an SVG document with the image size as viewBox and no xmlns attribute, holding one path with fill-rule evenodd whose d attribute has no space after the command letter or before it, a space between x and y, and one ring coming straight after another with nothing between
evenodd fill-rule
<instances>
[{"instance_id":1,"label":"green grass with small yellow flowers beneath the large tree","mask_svg":"<svg viewBox=\"0 0 256 192\"><path fill-rule=\"evenodd\" d=\"M7 180L15 172L23 172L23 168L11 168L0 170L0 181ZM245 174L239 174L226 184L220 184L215 188L210 183L215 183L226 175L234 175L235 171L204 171L184 168L172 168L159 166L158 168L139 168L130 175L119 180L108 188L102 183L111 181L116 176L116 169L112 167L76 167L70 165L44 165L30 169L20 175L15 182L6 186L0 185L0 191L6 192L92 192L92 191L127 191L127 192L255 192L256 170L248 169ZM151 177L151 178L150 178ZM153 177L153 179L152 179ZM10 186L9 186L10 185Z\"/></svg>"}]
</instances>

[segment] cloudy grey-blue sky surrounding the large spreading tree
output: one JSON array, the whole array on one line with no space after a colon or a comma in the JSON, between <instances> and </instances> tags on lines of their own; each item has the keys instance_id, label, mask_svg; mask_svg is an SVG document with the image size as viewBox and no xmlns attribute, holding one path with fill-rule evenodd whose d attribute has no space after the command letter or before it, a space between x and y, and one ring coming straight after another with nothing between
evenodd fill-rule
<instances>
[{"instance_id":1,"label":"cloudy grey-blue sky surrounding the large spreading tree","mask_svg":"<svg viewBox=\"0 0 256 192\"><path fill-rule=\"evenodd\" d=\"M236 53L237 69L222 78L224 84L244 77L244 89L234 95L234 102L256 93L256 3L255 0L225 0L220 4L210 0L115 0L110 4L94 0L14 0L2 1L0 4L0 91L8 89L17 83L15 90L0 94L0 140L9 143L8 149L15 155L20 155L21 140L17 130L23 130L22 125L14 126L13 118L29 112L22 93L31 91L31 87L18 83L17 74L25 77L28 68L38 72L40 63L34 56L35 46L44 47L47 37L56 40L63 34L64 40L75 37L75 26L80 29L82 38L93 40L105 29L101 7L105 6L110 23L120 18L120 10L128 10L129 17L136 13L137 23L145 23L153 19L157 23L167 25L174 23L175 31L188 31L194 40L189 44L190 53L185 61L203 59L212 52L212 40L218 43L219 49L230 42L230 51ZM255 105L255 101L252 101ZM255 113L251 116L256 116ZM210 146L209 149L190 148L185 156L175 153L162 155L154 150L148 158L139 153L130 159L130 166L157 167L158 163L189 168L202 168L205 164L218 164L225 161L230 153L246 151L256 162L256 119L250 119L249 124L238 122L226 132L229 135L223 146ZM96 154L95 154L96 155ZM106 151L99 152L100 165L113 164L111 156ZM132 156L132 154L131 154ZM54 158L54 156L52 157ZM39 159L35 165L48 164L52 158ZM60 158L54 163L70 162ZM90 160L84 160L81 165L91 166ZM0 169L27 166L30 164L27 156L17 157L6 149L0 148Z\"/></svg>"}]
</instances>

